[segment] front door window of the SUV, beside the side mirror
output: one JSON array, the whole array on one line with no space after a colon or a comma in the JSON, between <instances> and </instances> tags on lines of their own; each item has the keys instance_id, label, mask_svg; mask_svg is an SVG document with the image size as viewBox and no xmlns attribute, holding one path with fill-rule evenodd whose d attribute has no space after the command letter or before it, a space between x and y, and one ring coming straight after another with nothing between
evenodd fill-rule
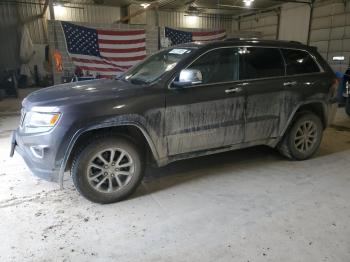
<instances>
[{"instance_id":1,"label":"front door window of the SUV, beside the side mirror","mask_svg":"<svg viewBox=\"0 0 350 262\"><path fill-rule=\"evenodd\" d=\"M202 55L188 69L200 70L203 84L238 80L239 56L237 51L237 48L215 49Z\"/></svg>"}]
</instances>

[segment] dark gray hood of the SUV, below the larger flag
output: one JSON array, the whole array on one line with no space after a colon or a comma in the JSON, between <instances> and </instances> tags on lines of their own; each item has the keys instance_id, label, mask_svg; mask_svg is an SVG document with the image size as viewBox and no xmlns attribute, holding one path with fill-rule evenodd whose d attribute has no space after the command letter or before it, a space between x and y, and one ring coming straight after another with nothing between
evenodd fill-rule
<instances>
[{"instance_id":1,"label":"dark gray hood of the SUV, below the larger flag","mask_svg":"<svg viewBox=\"0 0 350 262\"><path fill-rule=\"evenodd\" d=\"M133 85L127 81L110 79L55 85L31 93L23 100L23 107L60 107L65 104L126 96L142 87L142 85Z\"/></svg>"}]
</instances>

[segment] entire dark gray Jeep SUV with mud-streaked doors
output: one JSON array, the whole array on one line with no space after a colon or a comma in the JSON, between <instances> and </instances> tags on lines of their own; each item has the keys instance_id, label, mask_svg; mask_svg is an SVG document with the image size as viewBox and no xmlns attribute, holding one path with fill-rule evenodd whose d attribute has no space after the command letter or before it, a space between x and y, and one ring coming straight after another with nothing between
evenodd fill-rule
<instances>
[{"instance_id":1,"label":"entire dark gray Jeep SUV with mud-streaked doors","mask_svg":"<svg viewBox=\"0 0 350 262\"><path fill-rule=\"evenodd\" d=\"M115 80L57 85L23 100L14 150L91 201L126 198L146 163L255 145L303 160L332 120L333 71L313 47L230 40L162 50Z\"/></svg>"}]
</instances>

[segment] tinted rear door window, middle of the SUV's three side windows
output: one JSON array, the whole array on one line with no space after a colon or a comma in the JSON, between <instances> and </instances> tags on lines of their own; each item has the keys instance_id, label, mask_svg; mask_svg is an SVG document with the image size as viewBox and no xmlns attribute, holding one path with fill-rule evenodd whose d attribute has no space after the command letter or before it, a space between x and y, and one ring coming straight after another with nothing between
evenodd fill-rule
<instances>
[{"instance_id":1,"label":"tinted rear door window, middle of the SUV's three side windows","mask_svg":"<svg viewBox=\"0 0 350 262\"><path fill-rule=\"evenodd\" d=\"M240 79L284 76L284 61L276 48L241 47L243 70Z\"/></svg>"}]
</instances>

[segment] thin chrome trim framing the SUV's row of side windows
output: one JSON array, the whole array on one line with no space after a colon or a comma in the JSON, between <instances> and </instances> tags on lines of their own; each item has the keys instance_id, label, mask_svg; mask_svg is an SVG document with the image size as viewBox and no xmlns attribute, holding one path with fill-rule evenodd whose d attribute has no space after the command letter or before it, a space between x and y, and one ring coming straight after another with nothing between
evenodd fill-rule
<instances>
[{"instance_id":1,"label":"thin chrome trim framing the SUV's row of side windows","mask_svg":"<svg viewBox=\"0 0 350 262\"><path fill-rule=\"evenodd\" d=\"M252 45L239 45L239 46L221 46L221 47L215 47L215 48L211 48L207 51L205 51L203 54L199 55L198 57L196 57L194 60L192 60L186 67L184 67L183 69L187 69L189 66L191 66L194 62L196 62L199 58L201 58L202 56L204 56L205 54L217 50L217 49L224 49L224 48L240 48L240 47L256 47L256 48L275 48L278 49L280 51L280 54L282 56L282 59L285 63L285 75L283 76L271 76L271 77L261 77L261 78L251 78L251 79L239 79L239 80L234 80L234 81L226 81L226 82L216 82L216 83L210 83L210 84L198 84L198 85L191 85L188 87L182 87L184 89L186 88L192 88L192 87L199 87L199 86L211 86L211 85L218 85L218 84L229 84L229 83L240 83L240 82L244 82L244 81L257 81L257 80L270 80L270 79L279 79L279 78L285 78L285 77L295 77L295 76L305 76L305 75L318 75L318 74L323 74L325 71L322 68L322 66L320 65L320 63L317 61L316 57L314 55L312 55L308 50L305 49L301 49L301 48L294 48L294 47L276 47L276 46L252 46ZM287 64L285 62L285 58L282 54L282 49L289 49L289 50L299 50L299 51L303 51L306 52L307 54L310 55L310 57L314 60L314 62L316 63L316 65L318 66L318 68L320 69L319 72L313 72L313 73L303 73L303 74L295 74L295 75L287 75ZM181 69L181 70L183 70ZM180 70L180 71L181 71ZM171 80L168 83L168 89L179 89L176 87L171 87L171 83L175 80L176 75L174 77L171 78ZM181 89L182 89L181 88Z\"/></svg>"}]
</instances>

